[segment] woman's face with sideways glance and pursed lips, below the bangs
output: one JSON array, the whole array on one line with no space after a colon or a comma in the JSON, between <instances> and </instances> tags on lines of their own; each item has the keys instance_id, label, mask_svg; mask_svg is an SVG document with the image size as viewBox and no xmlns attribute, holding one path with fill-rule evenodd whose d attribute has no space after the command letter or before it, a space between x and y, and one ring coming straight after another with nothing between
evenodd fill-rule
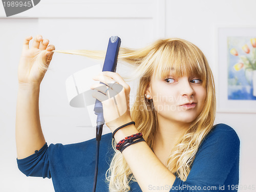
<instances>
[{"instance_id":1,"label":"woman's face with sideways glance and pursed lips, below the bangs","mask_svg":"<svg viewBox=\"0 0 256 192\"><path fill-rule=\"evenodd\" d=\"M154 75L146 94L151 95L159 119L190 123L204 107L206 88L197 76L177 77L170 73L163 79Z\"/></svg>"}]
</instances>

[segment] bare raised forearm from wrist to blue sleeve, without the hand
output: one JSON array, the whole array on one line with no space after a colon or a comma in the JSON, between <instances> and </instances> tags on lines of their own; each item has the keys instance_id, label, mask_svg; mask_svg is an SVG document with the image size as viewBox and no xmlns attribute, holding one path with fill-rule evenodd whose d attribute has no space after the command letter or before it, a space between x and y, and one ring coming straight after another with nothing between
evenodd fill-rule
<instances>
[{"instance_id":1,"label":"bare raised forearm from wrist to blue sleeve, without the hand","mask_svg":"<svg viewBox=\"0 0 256 192\"><path fill-rule=\"evenodd\" d=\"M38 100L39 86L19 85L16 108L16 147L17 158L32 155L46 143L42 134Z\"/></svg>"}]
</instances>

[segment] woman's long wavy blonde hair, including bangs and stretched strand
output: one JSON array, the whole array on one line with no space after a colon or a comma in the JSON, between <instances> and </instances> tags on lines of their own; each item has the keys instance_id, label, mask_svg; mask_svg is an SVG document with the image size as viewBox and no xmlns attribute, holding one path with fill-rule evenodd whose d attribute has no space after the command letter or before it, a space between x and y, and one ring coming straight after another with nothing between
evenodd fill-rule
<instances>
[{"instance_id":1,"label":"woman's long wavy blonde hair, including bangs and stretched strand","mask_svg":"<svg viewBox=\"0 0 256 192\"><path fill-rule=\"evenodd\" d=\"M55 51L61 53L84 55L91 58L104 58L105 52L98 51ZM148 146L155 144L155 133L158 130L157 112L153 102L146 99L144 94L153 74L157 77L167 77L168 69L173 69L178 76L195 74L203 80L206 87L205 105L199 116L191 122L185 134L179 139L172 153L166 161L166 167L185 181L193 163L198 148L211 131L216 113L215 83L208 62L202 51L183 39L169 38L155 41L143 49L132 50L120 48L118 61L123 60L135 66L133 74L139 77L139 86L136 99L131 109L131 117L136 123L139 132L143 134ZM167 69L167 70L166 70ZM134 79L134 78L133 78ZM140 110L141 107L145 110ZM136 181L129 165L122 154L115 149L116 141L112 140L115 155L106 172L106 180L109 182L110 191L129 191L129 182Z\"/></svg>"}]
</instances>

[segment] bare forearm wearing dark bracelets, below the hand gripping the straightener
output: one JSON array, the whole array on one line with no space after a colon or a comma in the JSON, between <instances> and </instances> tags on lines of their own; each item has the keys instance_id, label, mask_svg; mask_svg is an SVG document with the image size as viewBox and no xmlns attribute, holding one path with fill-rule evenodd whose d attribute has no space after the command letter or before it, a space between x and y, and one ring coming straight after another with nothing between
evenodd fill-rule
<instances>
[{"instance_id":1,"label":"bare forearm wearing dark bracelets, below the hand gripping the straightener","mask_svg":"<svg viewBox=\"0 0 256 192\"><path fill-rule=\"evenodd\" d=\"M126 122L131 122L127 119ZM115 134L116 141L120 141L124 137L138 133L136 127L131 124L120 129ZM176 179L168 168L153 153L146 142L132 144L125 148L122 152L124 159L130 166L138 184L142 191L169 191ZM154 187L161 187L163 190L153 190Z\"/></svg>"}]
</instances>

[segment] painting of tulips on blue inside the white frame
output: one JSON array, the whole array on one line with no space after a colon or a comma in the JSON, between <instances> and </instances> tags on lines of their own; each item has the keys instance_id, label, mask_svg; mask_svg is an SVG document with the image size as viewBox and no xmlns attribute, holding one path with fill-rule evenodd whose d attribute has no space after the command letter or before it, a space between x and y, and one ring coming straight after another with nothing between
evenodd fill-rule
<instances>
[{"instance_id":1,"label":"painting of tulips on blue inside the white frame","mask_svg":"<svg viewBox=\"0 0 256 192\"><path fill-rule=\"evenodd\" d=\"M256 100L256 35L227 37L228 100Z\"/></svg>"}]
</instances>

